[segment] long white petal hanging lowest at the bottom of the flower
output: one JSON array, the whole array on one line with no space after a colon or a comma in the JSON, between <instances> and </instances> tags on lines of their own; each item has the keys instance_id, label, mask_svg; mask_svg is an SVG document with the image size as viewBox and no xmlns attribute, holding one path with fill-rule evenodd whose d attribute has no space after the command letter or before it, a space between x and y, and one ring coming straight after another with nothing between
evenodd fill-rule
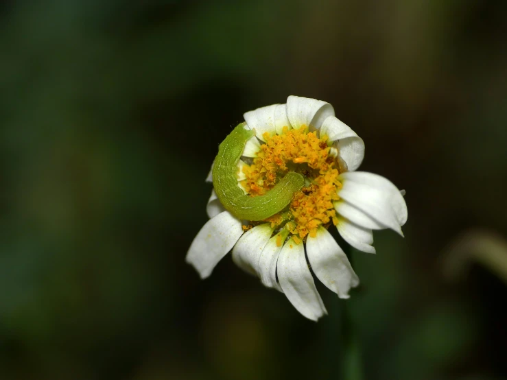
<instances>
[{"instance_id":1,"label":"long white petal hanging lowest at the bottom of the flower","mask_svg":"<svg viewBox=\"0 0 507 380\"><path fill-rule=\"evenodd\" d=\"M327 314L308 269L303 243L296 244L289 239L280 252L276 268L283 292L297 311L310 320Z\"/></svg>"}]
</instances>

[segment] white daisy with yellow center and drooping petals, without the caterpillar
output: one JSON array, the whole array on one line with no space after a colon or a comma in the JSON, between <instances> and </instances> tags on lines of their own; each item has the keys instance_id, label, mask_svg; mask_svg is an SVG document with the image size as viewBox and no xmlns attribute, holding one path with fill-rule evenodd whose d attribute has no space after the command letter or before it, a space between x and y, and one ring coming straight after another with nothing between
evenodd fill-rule
<instances>
[{"instance_id":1,"label":"white daisy with yellow center and drooping petals, without the caterpillar","mask_svg":"<svg viewBox=\"0 0 507 380\"><path fill-rule=\"evenodd\" d=\"M258 108L244 118L255 136L238 163L238 186L261 195L280 174L294 170L305 175L306 187L284 213L263 222L237 219L212 191L210 220L193 239L187 262L206 278L232 250L240 268L283 292L303 316L318 320L327 311L309 265L340 298L349 298L349 289L359 284L327 228L336 226L351 246L375 253L372 230L391 228L403 236L405 200L386 178L355 171L364 143L335 117L331 104L290 96L287 104ZM207 180L211 182L211 172Z\"/></svg>"}]
</instances>

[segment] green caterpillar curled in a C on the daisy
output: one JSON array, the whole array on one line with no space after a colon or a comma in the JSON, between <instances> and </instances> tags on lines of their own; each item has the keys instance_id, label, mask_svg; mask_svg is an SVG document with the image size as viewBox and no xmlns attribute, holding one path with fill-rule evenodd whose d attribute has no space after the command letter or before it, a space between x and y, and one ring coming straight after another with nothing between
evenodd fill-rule
<instances>
[{"instance_id":1,"label":"green caterpillar curled in a C on the daisy","mask_svg":"<svg viewBox=\"0 0 507 380\"><path fill-rule=\"evenodd\" d=\"M305 184L301 174L291 171L275 187L263 195L250 197L237 186L237 163L246 141L255 135L252 130L239 124L228 134L218 148L213 165L213 187L225 209L239 219L263 220L285 209L292 196Z\"/></svg>"}]
</instances>

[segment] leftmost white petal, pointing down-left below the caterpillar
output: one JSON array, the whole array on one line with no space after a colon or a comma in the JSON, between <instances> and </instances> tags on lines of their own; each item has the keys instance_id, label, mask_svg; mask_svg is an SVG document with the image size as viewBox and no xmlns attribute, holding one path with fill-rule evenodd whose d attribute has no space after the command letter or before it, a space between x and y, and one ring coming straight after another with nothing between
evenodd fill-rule
<instances>
[{"instance_id":1,"label":"leftmost white petal, pointing down-left below the caterpillar","mask_svg":"<svg viewBox=\"0 0 507 380\"><path fill-rule=\"evenodd\" d=\"M202 226L192 241L186 261L196 268L201 278L206 278L241 235L241 221L224 211Z\"/></svg>"}]
</instances>

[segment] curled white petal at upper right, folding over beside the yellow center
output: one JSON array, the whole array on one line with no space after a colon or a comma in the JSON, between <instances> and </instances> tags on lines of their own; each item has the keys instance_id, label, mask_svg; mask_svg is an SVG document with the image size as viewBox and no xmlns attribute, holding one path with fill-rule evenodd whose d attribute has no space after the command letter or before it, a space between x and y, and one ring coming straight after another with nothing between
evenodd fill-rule
<instances>
[{"instance_id":1,"label":"curled white petal at upper right, folding over beside the yellow center","mask_svg":"<svg viewBox=\"0 0 507 380\"><path fill-rule=\"evenodd\" d=\"M349 171L354 171L361 165L364 158L364 141L349 126L330 116L320 128L320 136L324 135L327 136L327 141L336 141L335 147Z\"/></svg>"}]
</instances>

